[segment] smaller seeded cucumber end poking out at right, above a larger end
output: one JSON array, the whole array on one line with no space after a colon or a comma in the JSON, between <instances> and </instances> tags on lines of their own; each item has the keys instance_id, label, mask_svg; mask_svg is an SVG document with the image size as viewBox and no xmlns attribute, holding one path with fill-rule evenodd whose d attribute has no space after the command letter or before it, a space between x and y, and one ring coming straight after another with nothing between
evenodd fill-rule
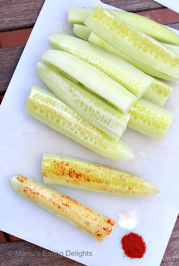
<instances>
[{"instance_id":1,"label":"smaller seeded cucumber end poking out at right, above a larger end","mask_svg":"<svg viewBox=\"0 0 179 266\"><path fill-rule=\"evenodd\" d=\"M154 79L147 91L143 94L143 98L163 107L166 100L169 98L172 89L172 84Z\"/></svg>"}]
</instances>

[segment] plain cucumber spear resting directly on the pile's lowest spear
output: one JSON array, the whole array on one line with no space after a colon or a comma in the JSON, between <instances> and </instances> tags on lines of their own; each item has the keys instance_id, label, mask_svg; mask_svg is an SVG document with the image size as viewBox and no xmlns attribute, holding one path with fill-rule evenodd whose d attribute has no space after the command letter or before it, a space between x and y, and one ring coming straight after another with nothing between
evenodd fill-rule
<instances>
[{"instance_id":1,"label":"plain cucumber spear resting directly on the pile's lowest spear","mask_svg":"<svg viewBox=\"0 0 179 266\"><path fill-rule=\"evenodd\" d=\"M101 97L74 84L44 62L38 62L36 72L41 80L77 114L118 141L126 130L130 115L123 115Z\"/></svg>"}]
</instances>

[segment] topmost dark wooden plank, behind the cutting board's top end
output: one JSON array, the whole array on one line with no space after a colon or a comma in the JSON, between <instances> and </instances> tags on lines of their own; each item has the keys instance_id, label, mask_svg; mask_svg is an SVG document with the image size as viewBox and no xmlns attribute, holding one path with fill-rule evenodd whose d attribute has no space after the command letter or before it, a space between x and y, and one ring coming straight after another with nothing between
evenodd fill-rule
<instances>
[{"instance_id":1,"label":"topmost dark wooden plank, behind the cutting board's top end","mask_svg":"<svg viewBox=\"0 0 179 266\"><path fill-rule=\"evenodd\" d=\"M102 0L102 2L130 12L165 8L153 0ZM44 0L0 0L0 32L33 27L43 4Z\"/></svg>"}]
</instances>

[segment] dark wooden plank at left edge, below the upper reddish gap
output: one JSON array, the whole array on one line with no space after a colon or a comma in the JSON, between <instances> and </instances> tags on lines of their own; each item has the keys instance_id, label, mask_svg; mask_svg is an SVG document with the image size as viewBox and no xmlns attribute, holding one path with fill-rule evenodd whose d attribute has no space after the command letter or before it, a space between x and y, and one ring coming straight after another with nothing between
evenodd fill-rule
<instances>
[{"instance_id":1,"label":"dark wooden plank at left edge, below the upper reddish gap","mask_svg":"<svg viewBox=\"0 0 179 266\"><path fill-rule=\"evenodd\" d=\"M24 47L0 48L0 95L5 94Z\"/></svg>"}]
</instances>

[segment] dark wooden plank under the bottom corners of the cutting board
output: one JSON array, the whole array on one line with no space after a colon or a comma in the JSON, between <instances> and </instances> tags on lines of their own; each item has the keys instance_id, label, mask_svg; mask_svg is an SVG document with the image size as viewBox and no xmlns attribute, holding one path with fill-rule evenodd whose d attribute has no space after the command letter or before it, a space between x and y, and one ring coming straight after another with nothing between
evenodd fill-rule
<instances>
[{"instance_id":1,"label":"dark wooden plank under the bottom corners of the cutting board","mask_svg":"<svg viewBox=\"0 0 179 266\"><path fill-rule=\"evenodd\" d=\"M178 257L179 249L179 218L175 223L172 235L163 256L161 266L179 265ZM50 252L49 256L44 248L31 244L27 241L20 240L15 242L0 244L0 264L5 266L34 266L34 265L60 265L60 266L82 266L83 264L75 262L66 257L60 257L56 253ZM21 255L19 253L21 251ZM9 253L8 253L9 252ZM23 256L22 252L27 252L27 256ZM28 253L31 252L31 253ZM39 252L39 253L38 253ZM19 256L18 256L19 254ZM31 254L31 256L30 256ZM33 256L34 254L34 256ZM38 255L39 254L39 255ZM120 259L120 258L119 258Z\"/></svg>"}]
</instances>

